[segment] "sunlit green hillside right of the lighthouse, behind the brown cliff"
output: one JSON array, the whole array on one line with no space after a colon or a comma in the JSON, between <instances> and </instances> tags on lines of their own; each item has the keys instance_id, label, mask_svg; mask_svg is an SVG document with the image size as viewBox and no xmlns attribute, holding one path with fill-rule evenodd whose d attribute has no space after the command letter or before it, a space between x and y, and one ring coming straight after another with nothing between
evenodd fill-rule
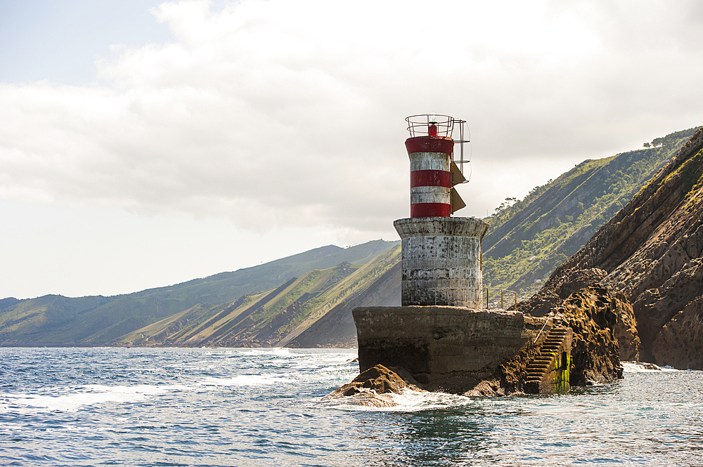
<instances>
[{"instance_id":1,"label":"sunlit green hillside right of the lighthouse, behind the brown cliff","mask_svg":"<svg viewBox=\"0 0 703 467\"><path fill-rule=\"evenodd\" d=\"M531 295L576 253L685 143L696 129L646 149L586 160L527 197L496 209L483 240L484 285Z\"/></svg>"}]
</instances>

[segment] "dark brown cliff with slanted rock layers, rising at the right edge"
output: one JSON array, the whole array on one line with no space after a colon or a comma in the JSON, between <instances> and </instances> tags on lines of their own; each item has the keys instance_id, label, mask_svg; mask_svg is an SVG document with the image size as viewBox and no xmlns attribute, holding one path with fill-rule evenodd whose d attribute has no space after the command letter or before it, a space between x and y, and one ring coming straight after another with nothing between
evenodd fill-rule
<instances>
[{"instance_id":1,"label":"dark brown cliff with slanted rock layers, rising at the right edge","mask_svg":"<svg viewBox=\"0 0 703 467\"><path fill-rule=\"evenodd\" d=\"M703 130L699 129L619 213L553 272L538 294L519 303L518 310L534 310L537 315L551 310L563 284L581 271L600 269L607 273L600 284L620 291L632 303L641 359L669 364L660 359L689 355L703 344L703 323L685 319L686 313L679 315L689 305L695 308L703 296L702 210ZM666 337L684 325L690 339ZM676 364L683 367L683 362ZM703 369L699 360L687 365Z\"/></svg>"}]
</instances>

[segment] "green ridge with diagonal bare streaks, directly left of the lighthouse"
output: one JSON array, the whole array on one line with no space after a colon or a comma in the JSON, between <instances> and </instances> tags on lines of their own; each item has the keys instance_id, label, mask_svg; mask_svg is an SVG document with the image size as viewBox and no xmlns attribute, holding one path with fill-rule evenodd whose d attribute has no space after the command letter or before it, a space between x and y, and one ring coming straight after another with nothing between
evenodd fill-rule
<instances>
[{"instance_id":1,"label":"green ridge with diagonal bare streaks, directly left of the lighthouse","mask_svg":"<svg viewBox=\"0 0 703 467\"><path fill-rule=\"evenodd\" d=\"M308 340L315 344L311 346L319 346L321 336L311 333L311 327L330 310L345 308L368 296L366 292L374 289L380 278L397 270L394 266L399 260L400 246L396 246L366 264L344 262L325 270L311 270L276 289L242 296L232 303L196 305L125 334L112 344L272 347L285 346L307 333ZM351 308L348 313L351 317ZM345 327L335 339L325 336L326 345L352 345L355 331Z\"/></svg>"}]
</instances>

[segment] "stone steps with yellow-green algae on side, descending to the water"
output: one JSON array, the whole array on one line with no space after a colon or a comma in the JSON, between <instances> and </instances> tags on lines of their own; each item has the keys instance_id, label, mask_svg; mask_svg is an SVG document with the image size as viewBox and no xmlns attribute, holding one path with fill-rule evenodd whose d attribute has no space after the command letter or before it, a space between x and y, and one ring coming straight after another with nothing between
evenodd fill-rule
<instances>
[{"instance_id":1,"label":"stone steps with yellow-green algae on side, descending to the water","mask_svg":"<svg viewBox=\"0 0 703 467\"><path fill-rule=\"evenodd\" d=\"M567 393L571 366L570 327L553 327L539 353L527 364L524 392L528 394Z\"/></svg>"}]
</instances>

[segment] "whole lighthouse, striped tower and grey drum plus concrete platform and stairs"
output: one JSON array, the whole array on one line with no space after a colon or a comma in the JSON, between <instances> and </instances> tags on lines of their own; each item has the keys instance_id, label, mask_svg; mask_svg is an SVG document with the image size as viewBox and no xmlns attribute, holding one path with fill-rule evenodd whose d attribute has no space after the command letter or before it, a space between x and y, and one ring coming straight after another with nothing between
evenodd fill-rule
<instances>
[{"instance_id":1,"label":"whole lighthouse, striped tower and grey drum plus concrete platform and stairs","mask_svg":"<svg viewBox=\"0 0 703 467\"><path fill-rule=\"evenodd\" d=\"M550 357L538 351L543 343L554 344L550 321L517 310L482 308L481 240L488 223L453 217L465 207L455 190L467 181L465 121L437 114L406 121L410 217L393 223L402 240L401 306L352 310L359 371L382 365L411 375L427 390L461 394L482 381L498 381L501 365L531 352L539 355L535 362L544 371L530 384L540 392L558 392L564 385L555 381L568 373L569 359L560 357L567 364L556 364L553 348ZM570 330L563 331L560 346L569 348ZM523 373L525 381L534 376Z\"/></svg>"}]
</instances>

